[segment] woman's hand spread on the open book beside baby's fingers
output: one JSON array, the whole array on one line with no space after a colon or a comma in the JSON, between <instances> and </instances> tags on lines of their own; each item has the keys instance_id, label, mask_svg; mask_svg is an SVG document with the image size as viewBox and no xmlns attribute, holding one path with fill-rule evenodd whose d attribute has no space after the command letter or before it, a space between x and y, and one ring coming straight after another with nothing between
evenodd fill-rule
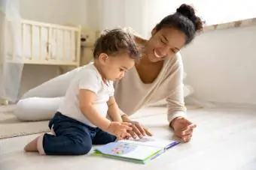
<instances>
[{"instance_id":1,"label":"woman's hand spread on the open book beside baby's fingers","mask_svg":"<svg viewBox=\"0 0 256 170\"><path fill-rule=\"evenodd\" d=\"M131 127L133 130L128 130L127 132L130 133L130 136L132 136L133 139L136 139L137 137L142 138L143 136L153 136L153 133L151 133L151 131L142 124L139 124L138 121L131 121L126 115L123 115L122 119L123 122L129 122L132 124Z\"/></svg>"}]
</instances>

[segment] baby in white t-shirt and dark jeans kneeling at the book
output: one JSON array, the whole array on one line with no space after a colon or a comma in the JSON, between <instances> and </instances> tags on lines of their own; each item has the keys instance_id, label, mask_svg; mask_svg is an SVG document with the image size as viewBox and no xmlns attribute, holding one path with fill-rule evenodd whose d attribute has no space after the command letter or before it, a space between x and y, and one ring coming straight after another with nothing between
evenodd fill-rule
<instances>
[{"instance_id":1,"label":"baby in white t-shirt and dark jeans kneeling at the book","mask_svg":"<svg viewBox=\"0 0 256 170\"><path fill-rule=\"evenodd\" d=\"M114 100L113 81L122 79L140 57L132 35L121 29L105 31L96 40L94 61L75 76L56 114L49 122L53 134L29 142L25 151L46 155L87 154L92 145L104 145L130 136ZM110 119L106 118L109 116ZM111 120L111 121L110 121Z\"/></svg>"}]
</instances>

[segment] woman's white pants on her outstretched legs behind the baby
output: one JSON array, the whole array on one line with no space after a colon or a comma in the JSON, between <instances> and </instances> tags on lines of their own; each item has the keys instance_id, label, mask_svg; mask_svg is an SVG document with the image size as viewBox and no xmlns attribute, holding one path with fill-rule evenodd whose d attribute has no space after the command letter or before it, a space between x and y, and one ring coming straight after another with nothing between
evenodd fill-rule
<instances>
[{"instance_id":1,"label":"woman's white pants on her outstretched legs behind the baby","mask_svg":"<svg viewBox=\"0 0 256 170\"><path fill-rule=\"evenodd\" d=\"M32 88L23 95L17 103L14 115L20 121L42 121L49 120L59 108L72 78L81 67L68 73L50 79L47 82Z\"/></svg>"}]
</instances>

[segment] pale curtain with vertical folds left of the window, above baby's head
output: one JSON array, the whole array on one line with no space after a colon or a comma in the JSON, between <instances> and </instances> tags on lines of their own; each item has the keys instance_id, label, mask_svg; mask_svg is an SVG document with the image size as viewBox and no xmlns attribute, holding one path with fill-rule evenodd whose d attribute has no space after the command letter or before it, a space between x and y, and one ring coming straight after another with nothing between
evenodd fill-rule
<instances>
[{"instance_id":1,"label":"pale curtain with vertical folds left of the window, above baby's head","mask_svg":"<svg viewBox=\"0 0 256 170\"><path fill-rule=\"evenodd\" d=\"M148 37L149 0L98 0L99 28L131 27Z\"/></svg>"}]
</instances>

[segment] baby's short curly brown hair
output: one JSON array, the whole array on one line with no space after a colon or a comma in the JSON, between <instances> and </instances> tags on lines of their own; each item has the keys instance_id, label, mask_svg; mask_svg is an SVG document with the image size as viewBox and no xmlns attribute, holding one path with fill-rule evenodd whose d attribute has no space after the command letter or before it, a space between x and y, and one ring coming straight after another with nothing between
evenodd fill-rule
<instances>
[{"instance_id":1,"label":"baby's short curly brown hair","mask_svg":"<svg viewBox=\"0 0 256 170\"><path fill-rule=\"evenodd\" d=\"M102 52L111 56L127 53L133 59L141 57L133 35L123 31L121 28L103 31L94 44L93 58L98 58Z\"/></svg>"}]
</instances>

